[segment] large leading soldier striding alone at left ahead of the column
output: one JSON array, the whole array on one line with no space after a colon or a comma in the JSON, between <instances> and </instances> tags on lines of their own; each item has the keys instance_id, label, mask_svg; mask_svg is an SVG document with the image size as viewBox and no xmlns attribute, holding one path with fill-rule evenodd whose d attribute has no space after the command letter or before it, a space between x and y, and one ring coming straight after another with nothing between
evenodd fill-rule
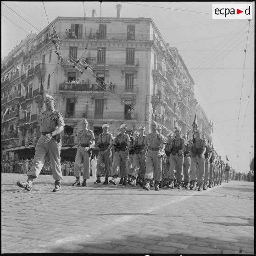
<instances>
[{"instance_id":1,"label":"large leading soldier striding alone at left ahead of the column","mask_svg":"<svg viewBox=\"0 0 256 256\"><path fill-rule=\"evenodd\" d=\"M41 136L35 147L35 156L28 171L26 182L17 182L17 185L28 191L32 189L33 180L41 172L46 156L50 157L52 176L55 180L53 192L61 190L61 132L64 129L64 118L62 114L55 109L56 100L45 95L46 111L39 116L39 126Z\"/></svg>"}]
</instances>

